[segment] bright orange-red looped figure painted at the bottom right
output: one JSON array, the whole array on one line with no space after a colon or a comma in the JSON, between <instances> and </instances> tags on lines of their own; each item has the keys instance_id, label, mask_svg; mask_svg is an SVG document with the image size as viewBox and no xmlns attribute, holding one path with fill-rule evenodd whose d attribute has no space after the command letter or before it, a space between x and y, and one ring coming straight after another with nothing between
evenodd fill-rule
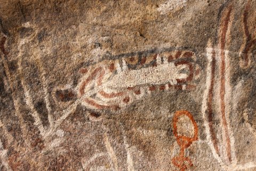
<instances>
[{"instance_id":1,"label":"bright orange-red looped figure painted at the bottom right","mask_svg":"<svg viewBox=\"0 0 256 171\"><path fill-rule=\"evenodd\" d=\"M178 133L178 127L177 123L179 120L179 117L181 116L186 116L190 119L191 123L194 126L194 135L193 137L189 137L186 135L179 135ZM173 165L178 167L180 171L185 171L189 167L193 166L193 162L189 157L185 157L185 149L187 149L194 141L198 139L198 127L196 124L196 121L193 118L193 115L189 111L186 110L180 110L175 112L174 117L173 117L173 134L175 138L177 139L177 143L180 146L180 153L178 156L174 157L172 159Z\"/></svg>"}]
</instances>

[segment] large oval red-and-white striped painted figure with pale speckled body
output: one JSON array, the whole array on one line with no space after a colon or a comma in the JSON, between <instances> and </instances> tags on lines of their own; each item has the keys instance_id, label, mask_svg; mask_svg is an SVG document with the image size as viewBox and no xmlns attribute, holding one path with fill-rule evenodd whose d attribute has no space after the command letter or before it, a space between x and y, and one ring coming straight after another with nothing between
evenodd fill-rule
<instances>
[{"instance_id":1,"label":"large oval red-and-white striped painted figure with pale speckled body","mask_svg":"<svg viewBox=\"0 0 256 171\"><path fill-rule=\"evenodd\" d=\"M117 110L155 91L195 89L201 68L193 51L173 50L124 55L80 72L81 103L91 109Z\"/></svg>"}]
</instances>

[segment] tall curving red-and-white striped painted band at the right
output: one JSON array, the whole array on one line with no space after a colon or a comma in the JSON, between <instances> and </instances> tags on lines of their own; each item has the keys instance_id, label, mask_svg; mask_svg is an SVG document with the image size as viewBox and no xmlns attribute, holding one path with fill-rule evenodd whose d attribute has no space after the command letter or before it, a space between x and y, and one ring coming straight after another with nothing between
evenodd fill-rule
<instances>
[{"instance_id":1,"label":"tall curving red-and-white striped painted band at the right","mask_svg":"<svg viewBox=\"0 0 256 171\"><path fill-rule=\"evenodd\" d=\"M207 76L206 89L203 97L202 113L205 120L207 140L213 156L225 170L243 170L256 167L249 162L238 165L235 154L235 139L230 127L231 86L228 40L231 26L232 8L222 13L219 28L219 43L212 48L209 41L206 48ZM219 124L217 124L219 122ZM217 126L215 126L217 125Z\"/></svg>"}]
</instances>

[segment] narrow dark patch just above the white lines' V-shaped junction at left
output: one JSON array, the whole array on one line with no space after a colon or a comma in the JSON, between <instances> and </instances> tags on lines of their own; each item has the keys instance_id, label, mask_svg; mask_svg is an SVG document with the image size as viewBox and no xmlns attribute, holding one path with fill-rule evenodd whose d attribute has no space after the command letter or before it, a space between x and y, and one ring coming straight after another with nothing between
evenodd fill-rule
<instances>
[{"instance_id":1,"label":"narrow dark patch just above the white lines' V-shaped junction at left","mask_svg":"<svg viewBox=\"0 0 256 171\"><path fill-rule=\"evenodd\" d=\"M35 104L36 111L39 113L39 117L42 120L43 126L49 125L48 112L44 100L40 100Z\"/></svg>"}]
</instances>

